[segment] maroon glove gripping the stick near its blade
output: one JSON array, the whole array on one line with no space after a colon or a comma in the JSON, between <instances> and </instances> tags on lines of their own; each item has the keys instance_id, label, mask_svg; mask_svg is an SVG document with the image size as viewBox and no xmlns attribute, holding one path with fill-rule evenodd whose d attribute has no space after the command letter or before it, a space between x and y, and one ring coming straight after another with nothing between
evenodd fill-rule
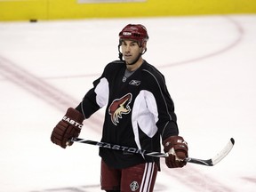
<instances>
[{"instance_id":1,"label":"maroon glove gripping the stick near its blade","mask_svg":"<svg viewBox=\"0 0 256 192\"><path fill-rule=\"evenodd\" d=\"M180 136L171 136L163 141L164 152L169 156L165 157L165 164L169 168L183 167L187 164L188 144Z\"/></svg>"}]
</instances>

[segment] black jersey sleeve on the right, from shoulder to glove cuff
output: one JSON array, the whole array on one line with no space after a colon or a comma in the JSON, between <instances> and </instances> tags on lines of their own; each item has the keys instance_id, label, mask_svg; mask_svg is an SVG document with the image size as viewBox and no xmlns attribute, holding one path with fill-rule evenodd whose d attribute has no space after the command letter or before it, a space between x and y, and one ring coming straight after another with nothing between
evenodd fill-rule
<instances>
[{"instance_id":1,"label":"black jersey sleeve on the right, from shoulder to glove cuff","mask_svg":"<svg viewBox=\"0 0 256 192\"><path fill-rule=\"evenodd\" d=\"M167 90L164 76L157 70L145 70L145 72L148 73L147 89L154 95L154 103L156 103L156 107L148 105L148 109L152 109L162 140L172 135L178 135L179 129L177 116L174 112L174 103Z\"/></svg>"}]
</instances>

